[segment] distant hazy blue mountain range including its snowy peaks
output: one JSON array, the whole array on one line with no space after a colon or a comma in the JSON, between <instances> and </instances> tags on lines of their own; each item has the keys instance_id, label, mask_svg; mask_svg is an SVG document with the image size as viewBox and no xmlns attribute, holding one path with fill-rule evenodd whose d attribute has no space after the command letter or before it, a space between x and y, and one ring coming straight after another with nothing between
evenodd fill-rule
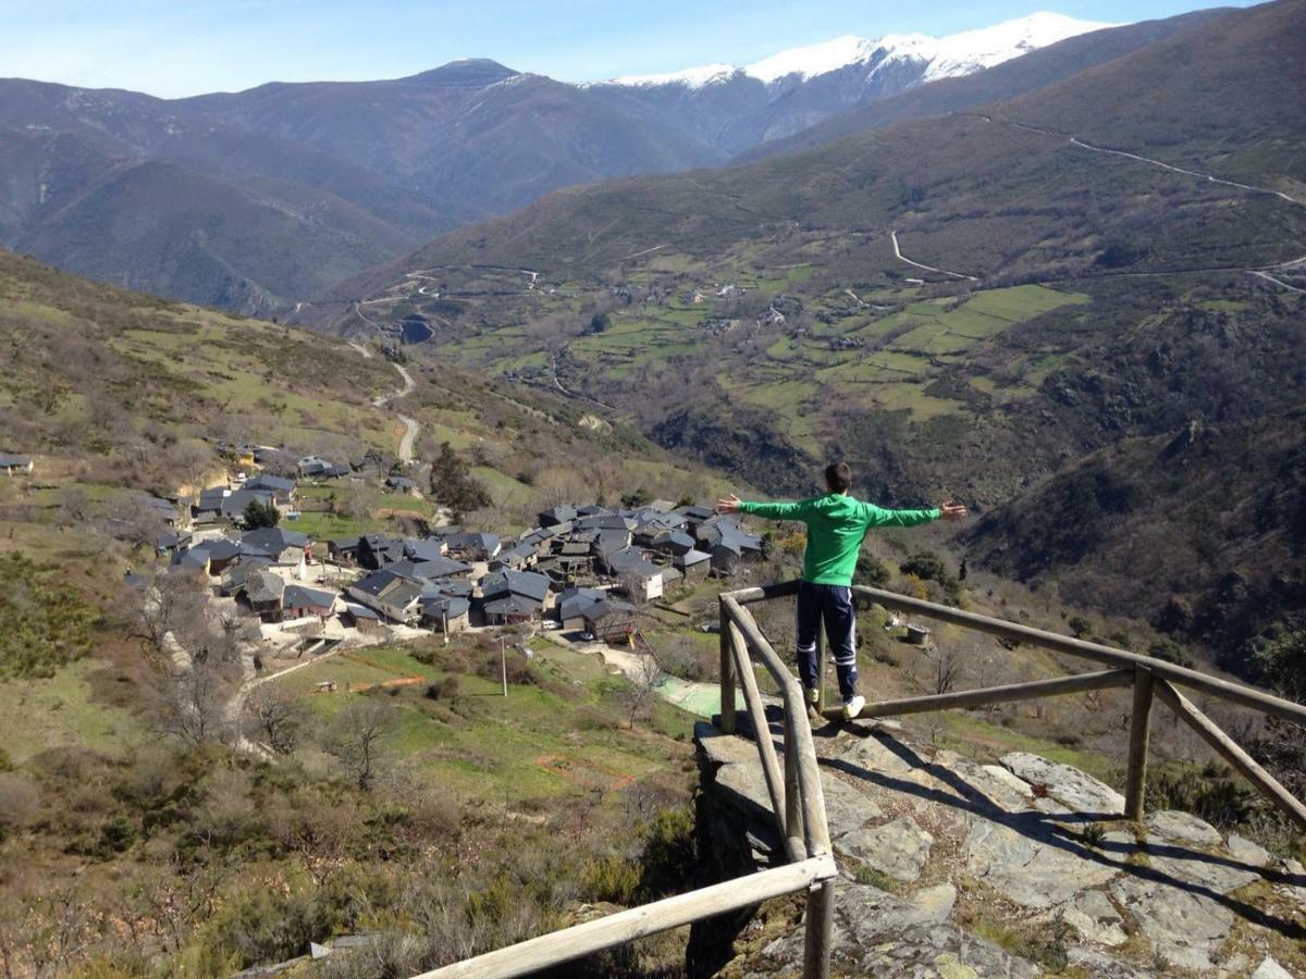
<instances>
[{"instance_id":1,"label":"distant hazy blue mountain range including its snowy peaks","mask_svg":"<svg viewBox=\"0 0 1306 979\"><path fill-rule=\"evenodd\" d=\"M713 78L589 85L488 60L172 101L3 80L0 244L269 316L562 187L721 166L1028 51L1051 56L1029 80L1046 84L1181 25L1100 26L1034 14L938 40L836 39Z\"/></svg>"}]
</instances>

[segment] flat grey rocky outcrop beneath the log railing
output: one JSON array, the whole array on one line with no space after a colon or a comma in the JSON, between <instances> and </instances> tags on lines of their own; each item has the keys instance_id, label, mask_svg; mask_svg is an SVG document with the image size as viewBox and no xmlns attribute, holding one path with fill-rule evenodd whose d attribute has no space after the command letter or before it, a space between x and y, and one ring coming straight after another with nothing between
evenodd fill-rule
<instances>
[{"instance_id":1,"label":"flat grey rocky outcrop beneath the log railing","mask_svg":"<svg viewBox=\"0 0 1306 979\"><path fill-rule=\"evenodd\" d=\"M769 731L780 748L774 718ZM842 873L836 975L1306 974L1294 860L1188 813L1124 822L1111 786L1036 754L985 765L896 726L819 734ZM700 815L721 821L700 825L700 845L730 854L735 873L781 860L756 747L710 724L696 740ZM695 974L801 971L797 920L780 935L746 924L696 928L714 961Z\"/></svg>"}]
</instances>

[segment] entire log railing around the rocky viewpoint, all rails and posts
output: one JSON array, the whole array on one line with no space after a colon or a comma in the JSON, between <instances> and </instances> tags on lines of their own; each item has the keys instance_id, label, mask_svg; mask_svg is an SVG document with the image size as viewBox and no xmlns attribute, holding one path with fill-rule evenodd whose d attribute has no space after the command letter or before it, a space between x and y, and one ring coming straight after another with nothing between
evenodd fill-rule
<instances>
[{"instance_id":1,"label":"entire log railing around the rocky viewpoint, all rails and posts","mask_svg":"<svg viewBox=\"0 0 1306 979\"><path fill-rule=\"evenodd\" d=\"M791 581L739 589L721 595L721 730L725 734L735 732L738 722L735 717L735 685L738 683L743 692L752 738L761 760L767 794L771 798L771 811L790 863L542 935L432 972L424 972L419 979L454 979L454 976L458 979L507 979L508 976L529 975L603 949L628 944L656 932L701 922L769 898L802 890L807 892L803 976L804 979L827 979L829 976L837 868L831 855L829 826L825 822L825 796L821 790L816 749L807 718L807 702L798 680L777 655L748 611L751 604L788 598L797 591L798 582ZM1196 670L1187 670L1097 642L1085 642L1002 619L964 612L959 608L908 598L892 591L855 586L853 593L862 603L875 602L885 608L951 623L1002 640L1066 653L1110 667L1053 680L868 704L862 710L861 718L918 714L930 710L974 707L986 704L1083 693L1111 687L1132 687L1130 761L1124 792L1126 818L1140 820L1143 817L1152 704L1160 697L1179 719L1192 727L1258 791L1285 812L1302 830L1306 830L1306 805L1294 799L1211 718L1198 710L1178 688L1200 691L1263 714L1303 724L1306 724L1306 706L1242 684L1208 676ZM818 711L837 721L842 717L841 711L827 709L824 702L825 658L819 644L818 638L818 655L821 662ZM782 700L782 760L776 753L774 739L764 713L761 692L754 671L754 655L771 674Z\"/></svg>"}]
</instances>

